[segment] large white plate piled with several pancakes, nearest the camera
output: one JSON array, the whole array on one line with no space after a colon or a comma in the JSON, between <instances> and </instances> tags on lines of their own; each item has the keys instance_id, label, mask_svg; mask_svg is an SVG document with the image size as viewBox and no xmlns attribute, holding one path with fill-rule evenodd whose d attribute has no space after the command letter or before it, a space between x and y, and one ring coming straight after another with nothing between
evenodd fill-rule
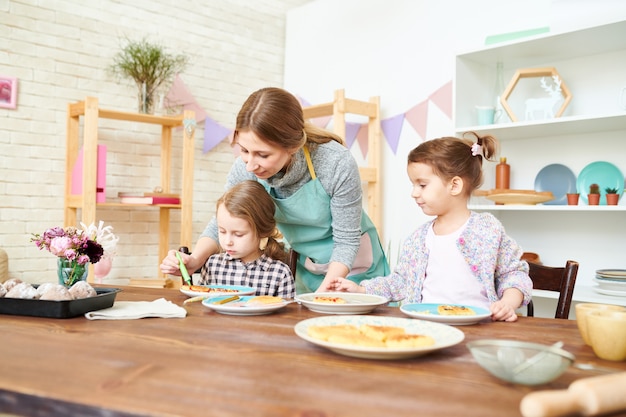
<instances>
[{"instance_id":1,"label":"large white plate piled with several pancakes, nearest the camera","mask_svg":"<svg viewBox=\"0 0 626 417\"><path fill-rule=\"evenodd\" d=\"M339 327L336 327L339 326ZM357 332L348 338L326 335L345 329ZM408 359L461 343L465 334L452 326L402 317L347 315L302 320L296 334L316 346L344 356L365 359ZM403 346L409 342L411 346ZM382 345L381 345L382 344Z\"/></svg>"}]
</instances>

